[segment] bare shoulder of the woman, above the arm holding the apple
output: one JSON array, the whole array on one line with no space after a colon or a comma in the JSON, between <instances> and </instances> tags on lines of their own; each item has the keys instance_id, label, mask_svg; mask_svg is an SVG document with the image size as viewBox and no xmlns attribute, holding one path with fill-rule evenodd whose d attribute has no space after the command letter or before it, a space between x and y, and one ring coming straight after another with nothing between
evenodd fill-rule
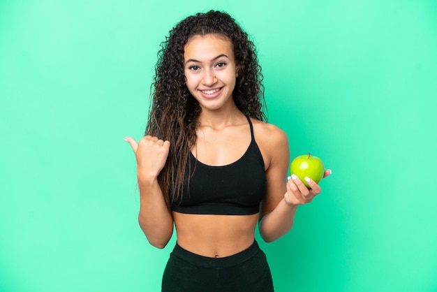
<instances>
[{"instance_id":1,"label":"bare shoulder of the woman, above the arm holding the apple","mask_svg":"<svg viewBox=\"0 0 437 292\"><path fill-rule=\"evenodd\" d=\"M288 156L288 137L285 131L274 124L252 119L255 141L260 148L266 168L274 156Z\"/></svg>"}]
</instances>

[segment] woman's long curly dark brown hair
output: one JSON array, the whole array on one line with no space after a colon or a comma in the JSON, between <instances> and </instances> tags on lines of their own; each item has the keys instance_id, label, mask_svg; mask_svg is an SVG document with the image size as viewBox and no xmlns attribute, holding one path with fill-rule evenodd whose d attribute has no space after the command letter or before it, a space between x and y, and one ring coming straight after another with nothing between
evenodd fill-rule
<instances>
[{"instance_id":1,"label":"woman's long curly dark brown hair","mask_svg":"<svg viewBox=\"0 0 437 292\"><path fill-rule=\"evenodd\" d=\"M191 147L195 145L195 129L200 105L188 91L184 76L184 45L196 35L220 34L233 45L239 68L232 93L237 108L244 115L261 121L267 117L261 67L255 45L235 20L220 11L197 13L179 22L161 43L151 94L151 108L145 134L170 141L170 152L158 175L165 201L177 199L184 184L184 175ZM188 163L189 165L189 163ZM191 170L190 170L191 172Z\"/></svg>"}]
</instances>

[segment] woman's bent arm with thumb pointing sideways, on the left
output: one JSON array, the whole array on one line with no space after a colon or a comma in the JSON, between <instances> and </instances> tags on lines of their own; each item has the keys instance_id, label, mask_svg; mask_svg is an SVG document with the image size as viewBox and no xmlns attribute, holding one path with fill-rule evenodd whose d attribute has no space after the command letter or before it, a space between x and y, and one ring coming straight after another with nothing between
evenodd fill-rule
<instances>
[{"instance_id":1,"label":"woman's bent arm with thumb pointing sideways, on the left","mask_svg":"<svg viewBox=\"0 0 437 292\"><path fill-rule=\"evenodd\" d=\"M170 142L145 136L139 143L126 137L137 161L138 185L140 187L140 214L138 222L147 240L154 247L162 249L173 233L173 218L161 187L158 174L167 161Z\"/></svg>"}]
</instances>

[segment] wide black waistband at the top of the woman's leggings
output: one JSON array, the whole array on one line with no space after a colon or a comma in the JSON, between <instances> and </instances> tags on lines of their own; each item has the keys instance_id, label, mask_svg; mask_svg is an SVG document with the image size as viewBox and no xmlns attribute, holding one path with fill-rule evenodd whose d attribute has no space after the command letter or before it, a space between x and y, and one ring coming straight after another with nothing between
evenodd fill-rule
<instances>
[{"instance_id":1,"label":"wide black waistband at the top of the woman's leggings","mask_svg":"<svg viewBox=\"0 0 437 292\"><path fill-rule=\"evenodd\" d=\"M232 254L232 256L225 256L223 258L210 258L208 256L200 256L199 254L187 251L180 247L176 242L175 249L173 249L171 255L181 258L188 263L193 263L206 268L225 268L232 265L238 265L258 254L259 251L261 251L261 249L258 246L258 242L254 240L250 247L244 249L244 251L238 252L237 254Z\"/></svg>"}]
</instances>

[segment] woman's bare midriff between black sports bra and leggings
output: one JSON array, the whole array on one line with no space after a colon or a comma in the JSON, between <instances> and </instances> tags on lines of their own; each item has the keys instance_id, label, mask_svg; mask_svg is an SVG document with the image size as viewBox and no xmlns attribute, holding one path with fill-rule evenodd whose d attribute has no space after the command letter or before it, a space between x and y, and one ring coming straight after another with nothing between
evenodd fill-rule
<instances>
[{"instance_id":1,"label":"woman's bare midriff between black sports bra and leggings","mask_svg":"<svg viewBox=\"0 0 437 292\"><path fill-rule=\"evenodd\" d=\"M173 212L177 243L193 254L232 256L253 244L258 214L210 215Z\"/></svg>"}]
</instances>

